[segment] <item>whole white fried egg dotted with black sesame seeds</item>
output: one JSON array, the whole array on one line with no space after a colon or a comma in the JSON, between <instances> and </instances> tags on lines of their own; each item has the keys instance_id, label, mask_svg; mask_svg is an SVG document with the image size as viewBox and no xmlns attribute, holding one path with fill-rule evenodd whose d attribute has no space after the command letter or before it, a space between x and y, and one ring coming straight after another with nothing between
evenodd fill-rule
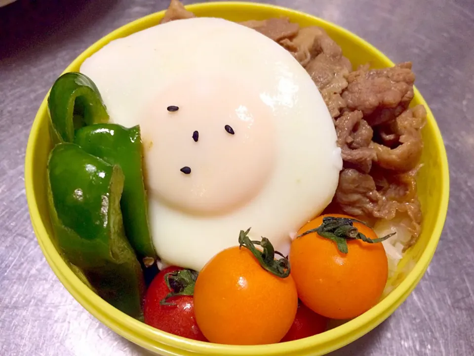
<instances>
[{"instance_id":1,"label":"whole white fried egg dotted with black sesame seeds","mask_svg":"<svg viewBox=\"0 0 474 356\"><path fill-rule=\"evenodd\" d=\"M331 201L342 159L326 105L293 56L257 31L172 21L105 45L80 71L111 122L140 125L163 263L200 270L248 227L286 254Z\"/></svg>"}]
</instances>

